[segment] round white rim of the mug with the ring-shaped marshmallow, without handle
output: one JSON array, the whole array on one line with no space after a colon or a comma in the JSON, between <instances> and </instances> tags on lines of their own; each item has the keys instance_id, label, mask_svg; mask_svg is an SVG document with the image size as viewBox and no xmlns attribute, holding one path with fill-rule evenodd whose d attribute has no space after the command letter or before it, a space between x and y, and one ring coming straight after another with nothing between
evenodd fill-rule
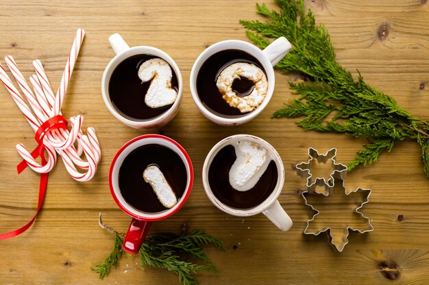
<instances>
[{"instance_id":1,"label":"round white rim of the mug with the ring-shaped marshmallow, without handle","mask_svg":"<svg viewBox=\"0 0 429 285\"><path fill-rule=\"evenodd\" d=\"M223 47L222 49L219 49L219 46L225 46L225 47ZM243 49L243 46L246 46L247 49ZM206 106L204 106L197 92L197 76L199 74L199 70L201 69L201 66L203 66L204 62L206 62L206 60L210 58L212 55L215 55L216 53L220 53L221 51L227 51L228 49L237 49L245 53L249 53L249 55L252 55L253 57L255 57L260 62L260 64L262 64L262 68L264 68L265 74L267 74L267 81L268 81L267 95L265 96L262 103L258 107L256 107L256 109L254 109L253 111L250 111L249 113L236 118L226 118L223 116L219 116L216 113L213 113ZM249 52L249 50L251 51ZM199 54L197 59L195 59L195 62L192 66L191 74L189 77L189 88L191 90L191 95L199 111L203 113L203 115L206 118L208 118L209 120L212 120L212 122L216 122L218 124L225 124L225 125L244 124L245 122L249 122L249 120L252 120L256 116L258 116L259 113L261 113L265 109L265 107L267 107L269 101L271 100L271 97L273 96L273 92L274 92L274 86L275 86L274 69L268 57L257 46L249 42L245 42L243 40L223 40L221 42L216 42L215 44L212 44L211 46L209 46L207 49L205 49Z\"/></svg>"}]
</instances>

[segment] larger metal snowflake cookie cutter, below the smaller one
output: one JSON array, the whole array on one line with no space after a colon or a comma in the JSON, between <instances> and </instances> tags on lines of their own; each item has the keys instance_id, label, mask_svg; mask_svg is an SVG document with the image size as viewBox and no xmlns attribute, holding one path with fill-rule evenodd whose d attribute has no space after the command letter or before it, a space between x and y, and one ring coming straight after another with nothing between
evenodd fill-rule
<instances>
[{"instance_id":1,"label":"larger metal snowflake cookie cutter, below the smaller one","mask_svg":"<svg viewBox=\"0 0 429 285\"><path fill-rule=\"evenodd\" d=\"M326 187L328 188L328 185L326 185ZM365 215L363 215L363 213L359 211L360 208L363 207L363 205L365 205L369 202L369 195L371 195L371 189L357 188L356 190L350 191L349 193L347 193L345 186L344 186L344 180L342 180L341 189L343 189L343 191L345 191L345 195L350 195L351 193L356 193L357 191L366 191L365 196L364 196L365 198L364 198L362 204L360 204L360 206L358 206L357 208L354 208L354 213L356 213L356 215L360 216L360 218L364 219L365 223L367 224L367 228L365 230L362 230L359 228L354 228L352 226L347 226L347 228L343 228L344 232L343 232L343 236L341 237L341 241L336 241L336 239L332 235L332 227L326 227L326 228L323 228L321 230L318 230L317 232L310 232L308 230L308 228L310 227L310 223L316 219L317 215L320 214L320 211L317 210L314 206L312 206L312 204L308 203L306 195L322 195L321 199L326 199L327 195L324 195L323 193L310 193L309 191L304 191L301 193L302 198L304 199L306 206L309 206L312 209L312 211L315 211L315 214L312 216L312 218L307 221L307 226L304 229L304 234L312 234L314 236L318 236L322 232L326 232L330 237L330 241L329 241L330 245L332 245L332 247L334 247L334 249L336 249L338 252L342 252L345 245L347 245L347 243L349 243L348 236L350 234L350 230L353 230L355 232L359 232L360 234L363 234L365 232L372 232L374 230L373 226L371 225L371 221L369 220L369 218L365 217ZM332 191L332 190L333 190L332 188L326 189L326 191L328 191L328 193L330 193L330 191Z\"/></svg>"}]
</instances>

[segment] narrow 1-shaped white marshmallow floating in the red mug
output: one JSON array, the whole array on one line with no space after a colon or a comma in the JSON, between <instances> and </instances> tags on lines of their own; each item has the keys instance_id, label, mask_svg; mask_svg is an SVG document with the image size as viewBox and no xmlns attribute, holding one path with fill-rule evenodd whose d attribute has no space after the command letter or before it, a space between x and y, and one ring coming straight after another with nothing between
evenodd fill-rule
<instances>
[{"instance_id":1,"label":"narrow 1-shaped white marshmallow floating in the red mug","mask_svg":"<svg viewBox=\"0 0 429 285\"><path fill-rule=\"evenodd\" d=\"M172 208L177 203L177 198L169 182L156 165L149 165L143 172L143 178L154 189L158 200L165 208Z\"/></svg>"}]
</instances>

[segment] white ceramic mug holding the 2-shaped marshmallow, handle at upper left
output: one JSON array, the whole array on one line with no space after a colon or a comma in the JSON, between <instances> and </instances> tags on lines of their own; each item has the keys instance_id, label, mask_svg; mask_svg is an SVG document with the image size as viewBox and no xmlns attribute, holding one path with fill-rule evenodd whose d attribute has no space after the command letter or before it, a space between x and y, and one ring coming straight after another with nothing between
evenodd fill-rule
<instances>
[{"instance_id":1,"label":"white ceramic mug holding the 2-shaped marshmallow, handle at upper left","mask_svg":"<svg viewBox=\"0 0 429 285\"><path fill-rule=\"evenodd\" d=\"M112 113L112 115L119 121L123 122L123 124L131 126L132 128L154 128L170 122L177 114L177 111L179 111L183 91L182 74L180 73L180 70L177 64L175 64L174 60L169 55L167 55L167 53L164 53L164 51L156 49L152 46L134 46L130 48L130 46L128 46L119 33L112 34L112 36L109 37L109 42L114 53L116 53L116 56L110 60L108 66L106 66L106 69L104 70L103 77L101 79L101 93L103 94L104 103L108 107L110 113ZM177 77L177 98L173 105L159 116L149 118L147 120L131 120L129 118L125 118L112 105L112 101L110 100L109 96L109 82L114 69L117 68L117 66L125 59L132 57L133 55L154 55L156 57L160 57L168 62L171 68L173 68L173 72L175 72ZM142 94L142 96L144 96L144 94Z\"/></svg>"}]
</instances>

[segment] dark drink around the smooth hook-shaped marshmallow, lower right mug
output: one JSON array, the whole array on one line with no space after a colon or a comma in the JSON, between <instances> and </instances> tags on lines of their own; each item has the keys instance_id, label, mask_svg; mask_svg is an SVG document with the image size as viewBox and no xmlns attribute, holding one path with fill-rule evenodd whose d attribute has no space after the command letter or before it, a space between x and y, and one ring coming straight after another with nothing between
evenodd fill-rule
<instances>
[{"instance_id":1,"label":"dark drink around the smooth hook-shaped marshmallow, lower right mug","mask_svg":"<svg viewBox=\"0 0 429 285\"><path fill-rule=\"evenodd\" d=\"M278 171L274 161L256 185L248 191L237 191L230 185L230 169L236 160L234 146L225 146L216 154L208 169L208 183L216 198L233 208L253 208L264 202L277 185Z\"/></svg>"}]
</instances>

